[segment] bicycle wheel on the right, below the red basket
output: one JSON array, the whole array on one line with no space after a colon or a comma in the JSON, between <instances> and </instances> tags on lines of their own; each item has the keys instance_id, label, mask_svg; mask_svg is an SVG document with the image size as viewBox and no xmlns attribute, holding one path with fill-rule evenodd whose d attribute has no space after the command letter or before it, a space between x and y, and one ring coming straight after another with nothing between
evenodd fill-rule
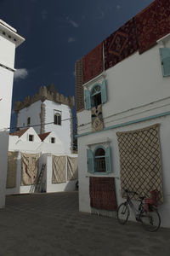
<instances>
[{"instance_id":1,"label":"bicycle wheel on the right, below the red basket","mask_svg":"<svg viewBox=\"0 0 170 256\"><path fill-rule=\"evenodd\" d=\"M145 230L154 232L159 229L161 218L156 208L151 207L149 212L144 210L140 218Z\"/></svg>"}]
</instances>

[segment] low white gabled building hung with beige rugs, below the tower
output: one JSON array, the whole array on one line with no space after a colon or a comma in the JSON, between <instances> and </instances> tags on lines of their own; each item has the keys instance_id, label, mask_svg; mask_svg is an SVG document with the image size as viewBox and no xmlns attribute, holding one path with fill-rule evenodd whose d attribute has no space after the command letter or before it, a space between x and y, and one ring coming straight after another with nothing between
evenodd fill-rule
<instances>
[{"instance_id":1,"label":"low white gabled building hung with beige rugs, below the tower","mask_svg":"<svg viewBox=\"0 0 170 256\"><path fill-rule=\"evenodd\" d=\"M37 183L42 165L45 169L36 192L75 190L77 154L65 154L65 145L54 131L37 134L32 128L9 136L6 195L30 193Z\"/></svg>"}]
</instances>

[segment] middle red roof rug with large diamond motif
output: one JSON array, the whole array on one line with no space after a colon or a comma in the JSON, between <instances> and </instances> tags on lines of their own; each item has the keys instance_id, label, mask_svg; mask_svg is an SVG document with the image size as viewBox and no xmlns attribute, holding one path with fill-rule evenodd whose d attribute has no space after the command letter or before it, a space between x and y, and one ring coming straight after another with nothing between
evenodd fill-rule
<instances>
[{"instance_id":1,"label":"middle red roof rug with large diamond motif","mask_svg":"<svg viewBox=\"0 0 170 256\"><path fill-rule=\"evenodd\" d=\"M105 69L115 66L138 49L134 18L105 39L104 49Z\"/></svg>"}]
</instances>

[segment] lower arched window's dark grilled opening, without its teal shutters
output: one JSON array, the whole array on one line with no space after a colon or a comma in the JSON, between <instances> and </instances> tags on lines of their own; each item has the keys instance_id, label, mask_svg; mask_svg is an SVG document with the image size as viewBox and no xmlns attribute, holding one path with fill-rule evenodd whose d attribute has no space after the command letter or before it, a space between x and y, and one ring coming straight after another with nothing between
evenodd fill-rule
<instances>
[{"instance_id":1,"label":"lower arched window's dark grilled opening, without its teal shutters","mask_svg":"<svg viewBox=\"0 0 170 256\"><path fill-rule=\"evenodd\" d=\"M98 148L94 153L94 170L94 172L106 172L104 148Z\"/></svg>"}]
</instances>

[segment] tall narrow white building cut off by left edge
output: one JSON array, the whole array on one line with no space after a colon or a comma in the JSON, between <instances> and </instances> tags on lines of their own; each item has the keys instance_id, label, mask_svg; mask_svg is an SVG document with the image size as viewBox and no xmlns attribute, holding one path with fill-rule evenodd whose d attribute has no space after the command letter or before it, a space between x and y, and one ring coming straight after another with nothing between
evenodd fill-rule
<instances>
[{"instance_id":1,"label":"tall narrow white building cut off by left edge","mask_svg":"<svg viewBox=\"0 0 170 256\"><path fill-rule=\"evenodd\" d=\"M10 126L11 100L14 79L15 48L25 41L14 27L0 20L0 207L5 205L5 185L8 160L8 127Z\"/></svg>"}]
</instances>

